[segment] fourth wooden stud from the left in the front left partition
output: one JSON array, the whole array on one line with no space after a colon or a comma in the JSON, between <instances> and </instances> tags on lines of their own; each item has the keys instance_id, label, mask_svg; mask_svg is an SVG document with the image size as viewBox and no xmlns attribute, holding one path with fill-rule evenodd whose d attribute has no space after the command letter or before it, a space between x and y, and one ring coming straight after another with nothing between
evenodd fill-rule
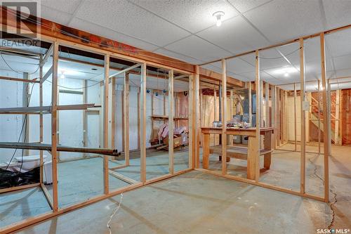
<instances>
[{"instance_id":1,"label":"fourth wooden stud from the left in the front left partition","mask_svg":"<svg viewBox=\"0 0 351 234\"><path fill-rule=\"evenodd\" d=\"M174 119L173 119L173 70L168 71L168 167L169 174L174 173L173 169L173 130L174 130Z\"/></svg>"}]
</instances>

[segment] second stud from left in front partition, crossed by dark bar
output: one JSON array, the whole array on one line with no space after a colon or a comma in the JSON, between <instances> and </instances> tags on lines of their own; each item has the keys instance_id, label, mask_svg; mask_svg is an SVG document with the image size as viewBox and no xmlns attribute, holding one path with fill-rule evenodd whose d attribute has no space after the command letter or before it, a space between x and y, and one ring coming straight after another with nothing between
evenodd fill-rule
<instances>
[{"instance_id":1,"label":"second stud from left in front partition, crossed by dark bar","mask_svg":"<svg viewBox=\"0 0 351 234\"><path fill-rule=\"evenodd\" d=\"M103 143L104 148L109 146L109 71L110 71L110 55L105 55L105 65L104 65L104 121L103 121ZM109 167L108 158L103 159L103 174L104 174L104 194L109 193Z\"/></svg>"}]
</instances>

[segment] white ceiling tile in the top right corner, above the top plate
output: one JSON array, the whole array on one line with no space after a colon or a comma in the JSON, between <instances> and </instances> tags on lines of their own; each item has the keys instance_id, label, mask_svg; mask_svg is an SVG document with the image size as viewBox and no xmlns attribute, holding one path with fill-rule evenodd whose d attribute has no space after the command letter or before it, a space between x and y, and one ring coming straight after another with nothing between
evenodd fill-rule
<instances>
[{"instance_id":1,"label":"white ceiling tile in the top right corner, above the top plate","mask_svg":"<svg viewBox=\"0 0 351 234\"><path fill-rule=\"evenodd\" d=\"M351 1L323 0L323 6L326 13L326 27L328 29L350 24Z\"/></svg>"}]
</instances>

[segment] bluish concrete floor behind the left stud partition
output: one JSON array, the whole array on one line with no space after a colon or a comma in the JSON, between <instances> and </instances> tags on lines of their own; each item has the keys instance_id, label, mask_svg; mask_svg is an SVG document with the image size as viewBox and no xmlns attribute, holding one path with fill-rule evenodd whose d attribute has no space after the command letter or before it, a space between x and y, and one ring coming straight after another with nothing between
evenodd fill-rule
<instances>
[{"instance_id":1,"label":"bluish concrete floor behind the left stud partition","mask_svg":"<svg viewBox=\"0 0 351 234\"><path fill-rule=\"evenodd\" d=\"M187 155L187 148L174 152L174 171L188 168ZM121 163L124 163L124 160L119 162L119 164ZM101 157L58 164L59 207L68 207L84 202L88 198L102 195L102 164ZM116 167L119 164L109 162L109 167ZM116 171L140 181L140 155L131 154L130 164L130 167ZM168 174L168 152L147 150L146 170L147 179ZM110 190L117 190L128 186L128 183L109 175L109 186ZM52 197L52 186L47 185L46 188ZM0 194L0 228L49 211L51 211L51 207L39 187Z\"/></svg>"}]
</instances>

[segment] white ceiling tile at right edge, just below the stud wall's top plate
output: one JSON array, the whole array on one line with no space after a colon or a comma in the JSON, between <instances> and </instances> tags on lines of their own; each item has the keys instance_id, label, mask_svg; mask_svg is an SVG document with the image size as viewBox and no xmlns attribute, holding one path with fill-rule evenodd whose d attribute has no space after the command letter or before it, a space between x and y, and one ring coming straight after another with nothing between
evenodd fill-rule
<instances>
[{"instance_id":1,"label":"white ceiling tile at right edge, just below the stud wall's top plate","mask_svg":"<svg viewBox=\"0 0 351 234\"><path fill-rule=\"evenodd\" d=\"M331 56L336 57L351 54L351 30L328 34L325 40L326 44L329 46Z\"/></svg>"}]
</instances>

